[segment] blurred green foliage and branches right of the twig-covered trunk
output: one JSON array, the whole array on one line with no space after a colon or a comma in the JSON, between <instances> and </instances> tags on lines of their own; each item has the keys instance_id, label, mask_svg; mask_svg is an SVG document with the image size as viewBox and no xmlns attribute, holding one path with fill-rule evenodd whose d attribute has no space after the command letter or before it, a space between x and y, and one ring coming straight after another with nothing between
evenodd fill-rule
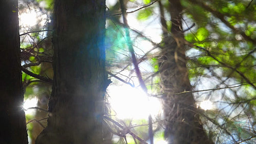
<instances>
[{"instance_id":1,"label":"blurred green foliage and branches right of the twig-covered trunk","mask_svg":"<svg viewBox=\"0 0 256 144\"><path fill-rule=\"evenodd\" d=\"M209 86L203 84L203 89L209 89L205 86L218 89L247 84L204 93L207 98L219 102L214 111L205 112L208 119L205 119L204 124L211 123L208 125L209 133L217 143L226 143L225 137L230 138L230 142L233 139L247 139L254 135L252 131L256 124L256 89L253 87L256 82L256 58L255 52L252 53L255 50L256 26L253 23L256 22L256 5L251 3L248 6L249 3L245 1L193 2L182 1L186 9L185 16L188 17L186 20L195 22L197 26L187 32L184 38L203 49L194 47L200 52L196 55L188 53L189 80L195 84L200 83L201 79L217 83ZM243 33L252 40L245 38Z\"/></svg>"}]
</instances>

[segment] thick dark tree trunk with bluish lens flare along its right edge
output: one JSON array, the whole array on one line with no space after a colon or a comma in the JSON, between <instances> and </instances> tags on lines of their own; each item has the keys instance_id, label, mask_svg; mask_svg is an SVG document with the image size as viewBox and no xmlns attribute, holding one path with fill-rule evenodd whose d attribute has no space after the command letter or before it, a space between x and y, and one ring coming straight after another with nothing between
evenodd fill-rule
<instances>
[{"instance_id":1,"label":"thick dark tree trunk with bluish lens flare along its right edge","mask_svg":"<svg viewBox=\"0 0 256 144\"><path fill-rule=\"evenodd\" d=\"M56 0L48 126L36 143L102 143L105 1Z\"/></svg>"}]
</instances>

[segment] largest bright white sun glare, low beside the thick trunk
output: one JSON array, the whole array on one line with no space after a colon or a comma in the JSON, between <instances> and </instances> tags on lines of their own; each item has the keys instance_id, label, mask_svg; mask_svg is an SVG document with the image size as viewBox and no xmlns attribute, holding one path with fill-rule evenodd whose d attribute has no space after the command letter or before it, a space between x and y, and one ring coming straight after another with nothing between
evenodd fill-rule
<instances>
[{"instance_id":1,"label":"largest bright white sun glare, low beside the thick trunk","mask_svg":"<svg viewBox=\"0 0 256 144\"><path fill-rule=\"evenodd\" d=\"M148 99L141 89L129 85L111 85L108 88L111 90L111 107L120 119L147 118L149 114L157 115L161 110L161 103L156 98Z\"/></svg>"}]
</instances>

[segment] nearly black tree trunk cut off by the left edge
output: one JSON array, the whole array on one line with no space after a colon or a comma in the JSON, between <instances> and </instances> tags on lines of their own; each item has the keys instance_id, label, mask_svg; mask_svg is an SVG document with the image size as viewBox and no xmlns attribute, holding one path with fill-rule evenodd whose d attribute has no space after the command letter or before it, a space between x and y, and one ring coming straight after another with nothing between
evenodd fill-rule
<instances>
[{"instance_id":1,"label":"nearly black tree trunk cut off by the left edge","mask_svg":"<svg viewBox=\"0 0 256 144\"><path fill-rule=\"evenodd\" d=\"M17 0L0 2L0 143L28 143L17 7Z\"/></svg>"}]
</instances>

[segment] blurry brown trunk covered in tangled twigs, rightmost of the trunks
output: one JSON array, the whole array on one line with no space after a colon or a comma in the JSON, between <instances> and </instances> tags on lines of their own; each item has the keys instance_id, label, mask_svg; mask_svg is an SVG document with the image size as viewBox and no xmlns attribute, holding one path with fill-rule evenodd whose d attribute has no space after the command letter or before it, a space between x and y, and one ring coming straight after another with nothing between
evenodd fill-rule
<instances>
[{"instance_id":1,"label":"blurry brown trunk covered in tangled twigs, rightmost of the trunks","mask_svg":"<svg viewBox=\"0 0 256 144\"><path fill-rule=\"evenodd\" d=\"M166 38L160 58L160 77L164 94L165 137L168 143L213 143L208 139L195 107L186 68L185 41L182 32L182 6L169 0L171 35ZM163 25L165 26L165 25Z\"/></svg>"}]
</instances>

